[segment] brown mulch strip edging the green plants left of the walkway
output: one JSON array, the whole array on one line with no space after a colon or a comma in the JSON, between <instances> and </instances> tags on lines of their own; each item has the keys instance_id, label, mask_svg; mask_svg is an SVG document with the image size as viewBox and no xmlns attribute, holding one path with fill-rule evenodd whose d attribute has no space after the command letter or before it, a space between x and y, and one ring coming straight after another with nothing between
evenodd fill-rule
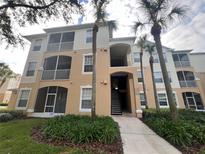
<instances>
[{"instance_id":1,"label":"brown mulch strip edging the green plants left of the walkway","mask_svg":"<svg viewBox=\"0 0 205 154\"><path fill-rule=\"evenodd\" d=\"M106 154L123 154L121 137L119 140L112 144L103 144L100 142L74 144L69 140L54 140L44 137L40 126L33 127L31 137L39 143L46 143L54 146L67 146L73 148L80 148L82 150L89 150L95 154L106 153Z\"/></svg>"}]
</instances>

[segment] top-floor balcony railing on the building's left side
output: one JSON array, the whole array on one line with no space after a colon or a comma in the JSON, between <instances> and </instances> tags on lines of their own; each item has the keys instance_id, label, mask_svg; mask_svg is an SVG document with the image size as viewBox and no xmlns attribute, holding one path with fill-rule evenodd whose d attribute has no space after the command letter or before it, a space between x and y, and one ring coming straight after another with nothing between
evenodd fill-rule
<instances>
[{"instance_id":1,"label":"top-floor balcony railing on the building's left side","mask_svg":"<svg viewBox=\"0 0 205 154\"><path fill-rule=\"evenodd\" d=\"M49 43L47 47L47 51L64 51L64 50L72 50L73 42L62 42L62 43Z\"/></svg>"}]
</instances>

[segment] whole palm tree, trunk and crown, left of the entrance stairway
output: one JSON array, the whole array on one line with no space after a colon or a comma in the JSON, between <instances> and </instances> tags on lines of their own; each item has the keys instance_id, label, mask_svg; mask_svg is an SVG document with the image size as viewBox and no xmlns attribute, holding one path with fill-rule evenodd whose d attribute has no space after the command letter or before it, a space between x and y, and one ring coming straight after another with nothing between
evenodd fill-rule
<instances>
[{"instance_id":1,"label":"whole palm tree, trunk and crown, left of the entrance stairway","mask_svg":"<svg viewBox=\"0 0 205 154\"><path fill-rule=\"evenodd\" d=\"M108 5L109 0L92 0L92 4L95 9L95 22L93 25L93 40L92 40L92 52L93 52L93 74L92 74L92 101L91 101L91 117L95 118L95 106L96 106L96 52L97 52L97 33L100 23L105 23L106 11L105 8Z\"/></svg>"}]
</instances>

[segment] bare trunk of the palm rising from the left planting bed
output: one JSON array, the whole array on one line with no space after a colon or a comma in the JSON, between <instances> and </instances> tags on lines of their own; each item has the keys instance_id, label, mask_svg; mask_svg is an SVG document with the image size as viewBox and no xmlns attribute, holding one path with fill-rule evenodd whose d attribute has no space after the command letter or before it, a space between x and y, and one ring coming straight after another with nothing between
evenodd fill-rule
<instances>
[{"instance_id":1,"label":"bare trunk of the palm rising from the left planting bed","mask_svg":"<svg viewBox=\"0 0 205 154\"><path fill-rule=\"evenodd\" d=\"M94 120L96 117L95 106L96 106L96 52L97 52L97 32L98 26L93 26L93 40L92 40L92 51L93 51L93 73L92 73L92 101L91 101L91 117Z\"/></svg>"}]
</instances>

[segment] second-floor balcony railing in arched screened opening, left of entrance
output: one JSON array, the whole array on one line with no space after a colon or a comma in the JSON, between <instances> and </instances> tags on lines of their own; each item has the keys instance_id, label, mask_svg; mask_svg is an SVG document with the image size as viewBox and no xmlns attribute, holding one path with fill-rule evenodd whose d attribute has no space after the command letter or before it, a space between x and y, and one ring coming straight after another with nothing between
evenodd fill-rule
<instances>
[{"instance_id":1,"label":"second-floor balcony railing in arched screened opening, left of entrance","mask_svg":"<svg viewBox=\"0 0 205 154\"><path fill-rule=\"evenodd\" d=\"M70 77L70 69L43 70L41 79L60 80L60 79L69 79L69 77Z\"/></svg>"}]
</instances>

